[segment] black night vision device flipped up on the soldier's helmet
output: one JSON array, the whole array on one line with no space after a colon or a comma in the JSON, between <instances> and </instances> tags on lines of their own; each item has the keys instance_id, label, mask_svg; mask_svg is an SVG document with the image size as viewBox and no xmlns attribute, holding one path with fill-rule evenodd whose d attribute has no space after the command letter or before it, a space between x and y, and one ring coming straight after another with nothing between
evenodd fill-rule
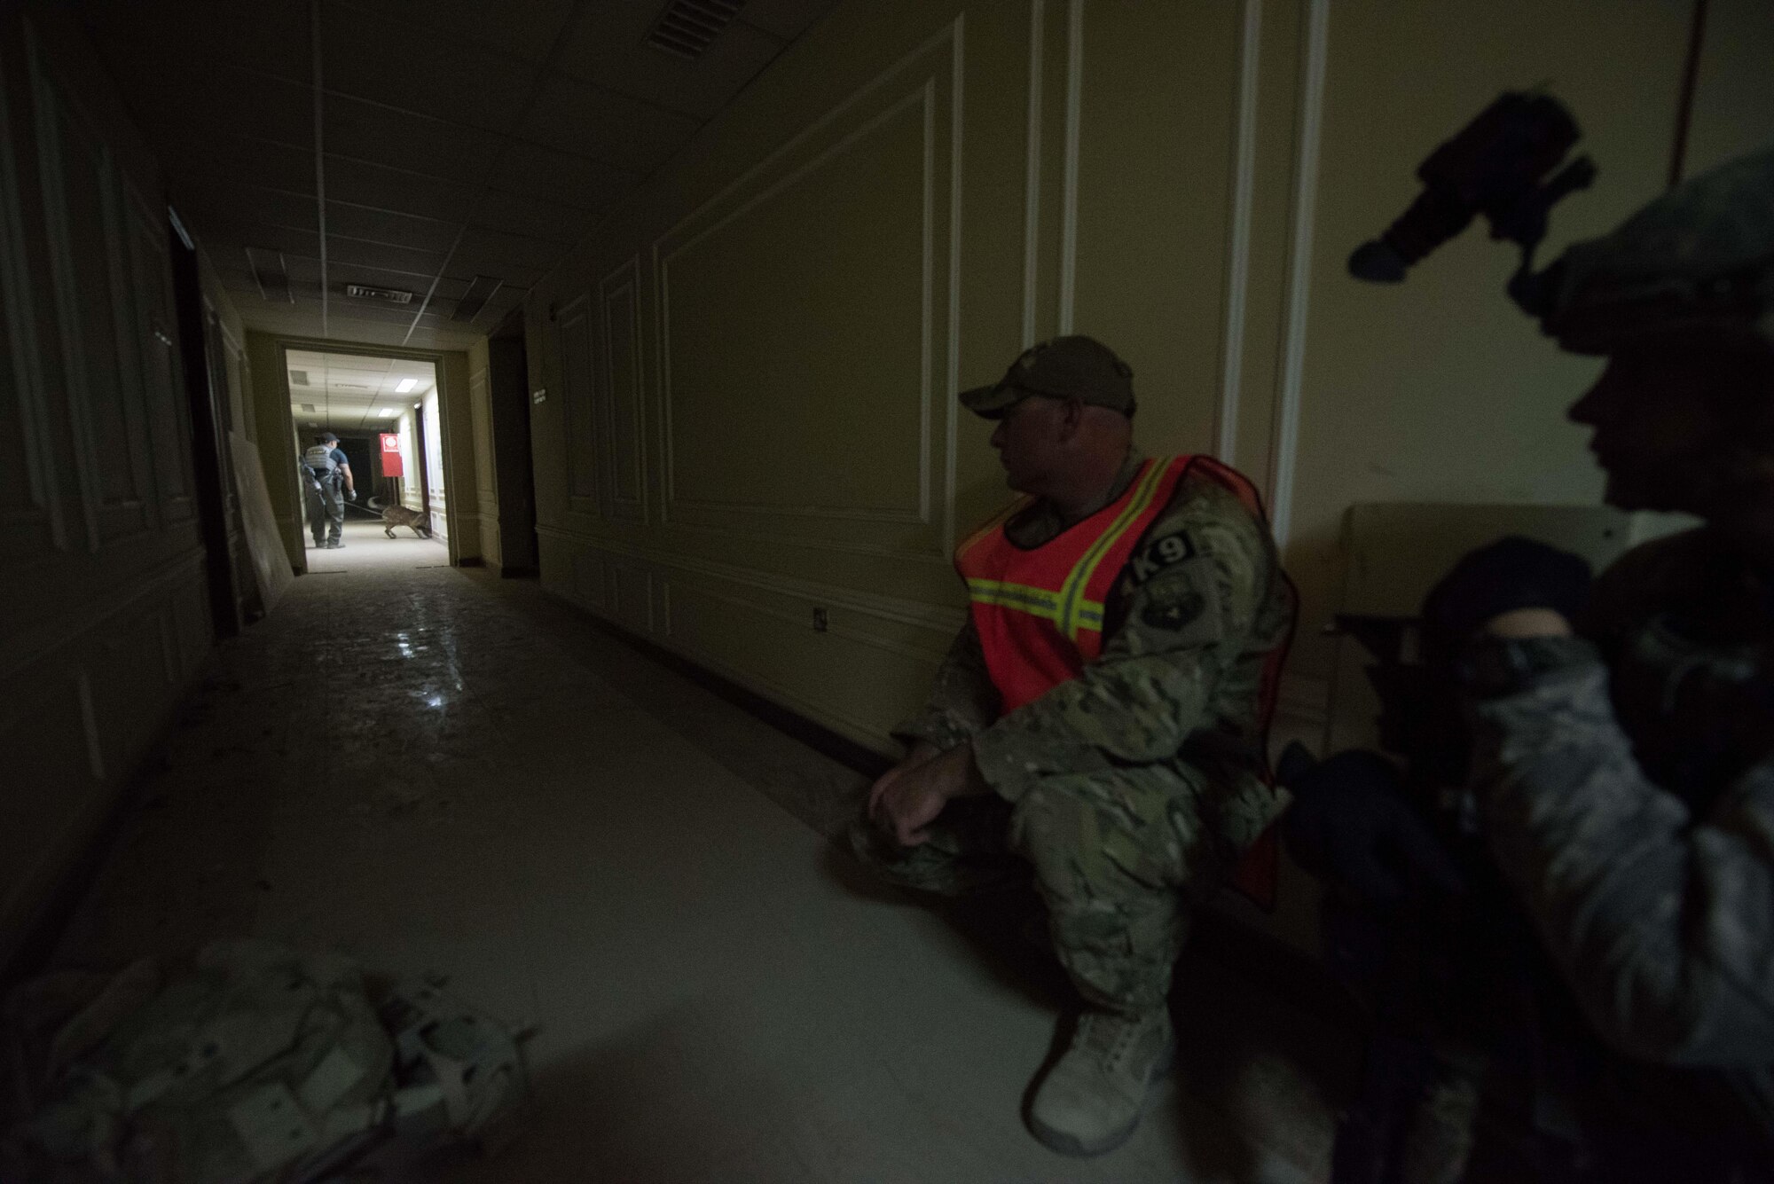
<instances>
[{"instance_id":1,"label":"black night vision device flipped up on the soldier's helmet","mask_svg":"<svg viewBox=\"0 0 1774 1184\"><path fill-rule=\"evenodd\" d=\"M1533 261L1547 232L1547 214L1561 199L1595 181L1595 163L1588 156L1559 167L1581 136L1570 110L1550 94L1503 94L1417 167L1423 193L1385 234L1355 248L1348 257L1350 275L1398 284L1414 262L1483 214L1490 238L1522 248L1510 296L1540 315L1547 273L1535 275Z\"/></svg>"}]
</instances>

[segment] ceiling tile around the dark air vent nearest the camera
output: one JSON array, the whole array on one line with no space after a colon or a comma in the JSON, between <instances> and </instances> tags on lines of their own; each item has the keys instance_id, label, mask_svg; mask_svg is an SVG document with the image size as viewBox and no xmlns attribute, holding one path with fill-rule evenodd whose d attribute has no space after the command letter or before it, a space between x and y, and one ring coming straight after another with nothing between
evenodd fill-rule
<instances>
[{"instance_id":1,"label":"ceiling tile around the dark air vent nearest the camera","mask_svg":"<svg viewBox=\"0 0 1774 1184\"><path fill-rule=\"evenodd\" d=\"M699 58L683 58L646 44L639 32L610 28L614 12L591 5L561 57L561 71L582 82L621 90L697 121L708 121L782 51L784 43L752 25L733 23Z\"/></svg>"}]
</instances>

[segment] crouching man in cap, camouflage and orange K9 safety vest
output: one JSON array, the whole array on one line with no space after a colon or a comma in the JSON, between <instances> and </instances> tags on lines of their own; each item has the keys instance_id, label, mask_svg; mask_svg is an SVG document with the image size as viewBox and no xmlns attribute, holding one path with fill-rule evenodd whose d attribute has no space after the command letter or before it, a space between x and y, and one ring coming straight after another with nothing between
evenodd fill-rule
<instances>
[{"instance_id":1,"label":"crouching man in cap, camouflage and orange K9 safety vest","mask_svg":"<svg viewBox=\"0 0 1774 1184\"><path fill-rule=\"evenodd\" d=\"M1190 909L1279 810L1265 730L1295 608L1251 484L1134 445L1132 378L1059 337L962 395L1024 498L958 548L970 620L852 828L910 888L1032 879L1084 1007L1029 1124L1077 1156L1139 1126Z\"/></svg>"}]
</instances>

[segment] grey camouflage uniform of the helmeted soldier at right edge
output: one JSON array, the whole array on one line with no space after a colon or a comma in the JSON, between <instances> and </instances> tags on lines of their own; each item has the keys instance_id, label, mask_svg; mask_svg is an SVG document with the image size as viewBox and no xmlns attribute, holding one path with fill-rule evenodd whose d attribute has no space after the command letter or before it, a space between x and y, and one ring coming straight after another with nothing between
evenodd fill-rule
<instances>
[{"instance_id":1,"label":"grey camouflage uniform of the helmeted soldier at right edge","mask_svg":"<svg viewBox=\"0 0 1774 1184\"><path fill-rule=\"evenodd\" d=\"M1636 1062L1696 1067L1614 1065L1644 1078L1629 1106L1659 1124L1685 1110L1696 1134L1735 1111L1717 1138L1758 1141L1774 1133L1774 588L1701 528L1614 564L1584 633L1488 643L1515 672L1478 704L1490 849L1588 1026Z\"/></svg>"}]
</instances>

